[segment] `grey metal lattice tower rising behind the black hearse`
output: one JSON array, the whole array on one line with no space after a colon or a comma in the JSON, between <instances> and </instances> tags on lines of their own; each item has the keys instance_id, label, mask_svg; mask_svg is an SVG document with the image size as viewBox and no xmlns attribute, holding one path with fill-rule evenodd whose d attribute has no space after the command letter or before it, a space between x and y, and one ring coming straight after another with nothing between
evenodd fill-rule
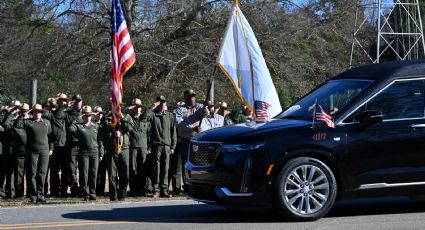
<instances>
[{"instance_id":1,"label":"grey metal lattice tower rising behind the black hearse","mask_svg":"<svg viewBox=\"0 0 425 230\"><path fill-rule=\"evenodd\" d=\"M358 0L350 67L425 57L419 0Z\"/></svg>"}]
</instances>

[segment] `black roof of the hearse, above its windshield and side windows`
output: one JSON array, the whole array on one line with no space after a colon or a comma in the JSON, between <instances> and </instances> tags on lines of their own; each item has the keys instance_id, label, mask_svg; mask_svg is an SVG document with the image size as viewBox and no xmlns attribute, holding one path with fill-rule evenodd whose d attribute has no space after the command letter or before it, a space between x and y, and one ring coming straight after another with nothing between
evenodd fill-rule
<instances>
[{"instance_id":1,"label":"black roof of the hearse, above its windshield and side windows","mask_svg":"<svg viewBox=\"0 0 425 230\"><path fill-rule=\"evenodd\" d=\"M405 77L425 76L425 60L392 61L369 64L343 72L332 80L361 79L385 81Z\"/></svg>"}]
</instances>

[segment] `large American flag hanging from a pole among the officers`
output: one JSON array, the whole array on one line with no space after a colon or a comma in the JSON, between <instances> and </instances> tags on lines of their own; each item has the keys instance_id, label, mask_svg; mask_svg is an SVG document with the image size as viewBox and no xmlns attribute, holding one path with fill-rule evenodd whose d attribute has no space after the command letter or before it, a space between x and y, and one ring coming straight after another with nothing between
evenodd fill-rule
<instances>
[{"instance_id":1,"label":"large American flag hanging from a pole among the officers","mask_svg":"<svg viewBox=\"0 0 425 230\"><path fill-rule=\"evenodd\" d=\"M112 0L112 125L121 119L122 78L136 61L120 0Z\"/></svg>"}]
</instances>

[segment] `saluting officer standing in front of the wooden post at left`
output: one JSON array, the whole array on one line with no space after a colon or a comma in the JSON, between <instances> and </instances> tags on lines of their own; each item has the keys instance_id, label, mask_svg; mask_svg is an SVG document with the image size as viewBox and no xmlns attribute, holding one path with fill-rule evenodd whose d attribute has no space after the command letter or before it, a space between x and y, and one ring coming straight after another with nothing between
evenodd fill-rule
<instances>
[{"instance_id":1,"label":"saluting officer standing in front of the wooden post at left","mask_svg":"<svg viewBox=\"0 0 425 230\"><path fill-rule=\"evenodd\" d=\"M29 151L29 195L32 203L46 202L44 197L44 183L49 167L49 155L53 153L52 126L42 118L45 111L42 106L35 104L32 107L32 119L24 120L23 128L27 133ZM17 127L20 127L18 124Z\"/></svg>"}]
</instances>

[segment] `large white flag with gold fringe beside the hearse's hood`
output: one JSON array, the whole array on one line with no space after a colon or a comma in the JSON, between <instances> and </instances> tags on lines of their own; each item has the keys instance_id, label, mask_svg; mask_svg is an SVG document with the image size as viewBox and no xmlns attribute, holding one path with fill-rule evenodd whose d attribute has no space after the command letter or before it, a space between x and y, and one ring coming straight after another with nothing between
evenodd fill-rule
<instances>
[{"instance_id":1,"label":"large white flag with gold fringe beside the hearse's hood","mask_svg":"<svg viewBox=\"0 0 425 230\"><path fill-rule=\"evenodd\" d=\"M257 118L282 112L279 97L254 31L234 5L216 65Z\"/></svg>"}]
</instances>

